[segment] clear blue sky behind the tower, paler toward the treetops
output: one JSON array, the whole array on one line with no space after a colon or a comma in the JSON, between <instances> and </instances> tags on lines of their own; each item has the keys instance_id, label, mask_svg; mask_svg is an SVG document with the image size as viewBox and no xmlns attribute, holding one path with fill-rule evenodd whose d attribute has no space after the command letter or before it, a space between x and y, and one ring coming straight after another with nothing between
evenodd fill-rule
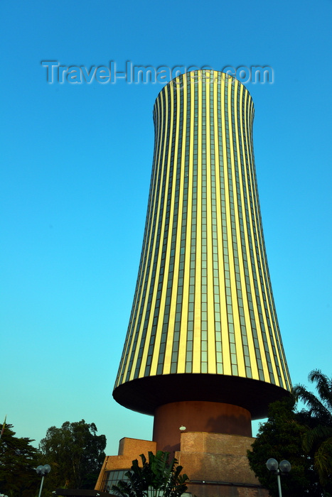
<instances>
[{"instance_id":1,"label":"clear blue sky behind the tower, paler toward the treetops","mask_svg":"<svg viewBox=\"0 0 332 497\"><path fill-rule=\"evenodd\" d=\"M161 83L48 84L60 65L269 65L246 84L267 257L293 383L331 376L332 1L2 0L0 422L36 439L112 399L141 254Z\"/></svg>"}]
</instances>

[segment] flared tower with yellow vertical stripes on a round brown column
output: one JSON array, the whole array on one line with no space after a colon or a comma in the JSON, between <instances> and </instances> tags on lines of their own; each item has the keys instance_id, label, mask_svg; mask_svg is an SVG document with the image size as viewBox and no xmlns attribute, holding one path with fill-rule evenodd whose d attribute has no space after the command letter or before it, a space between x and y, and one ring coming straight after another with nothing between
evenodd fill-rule
<instances>
[{"instance_id":1,"label":"flared tower with yellow vertical stripes on a round brown column","mask_svg":"<svg viewBox=\"0 0 332 497\"><path fill-rule=\"evenodd\" d=\"M289 371L265 253L254 105L222 72L176 77L154 104L154 159L132 313L114 398L178 428L251 435Z\"/></svg>"}]
</instances>

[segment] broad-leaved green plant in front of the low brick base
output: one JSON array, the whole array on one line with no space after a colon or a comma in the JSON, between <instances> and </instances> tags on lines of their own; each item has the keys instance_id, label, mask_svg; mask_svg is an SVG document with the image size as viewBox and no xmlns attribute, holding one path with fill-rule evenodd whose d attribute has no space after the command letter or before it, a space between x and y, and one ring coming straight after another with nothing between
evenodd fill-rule
<instances>
[{"instance_id":1,"label":"broad-leaved green plant in front of the low brick base","mask_svg":"<svg viewBox=\"0 0 332 497\"><path fill-rule=\"evenodd\" d=\"M181 475L182 466L173 458L169 461L169 452L161 450L154 455L149 452L149 460L141 454L139 461L132 461L132 468L127 471L127 480L112 486L112 493L119 497L180 497L187 490L188 476Z\"/></svg>"}]
</instances>

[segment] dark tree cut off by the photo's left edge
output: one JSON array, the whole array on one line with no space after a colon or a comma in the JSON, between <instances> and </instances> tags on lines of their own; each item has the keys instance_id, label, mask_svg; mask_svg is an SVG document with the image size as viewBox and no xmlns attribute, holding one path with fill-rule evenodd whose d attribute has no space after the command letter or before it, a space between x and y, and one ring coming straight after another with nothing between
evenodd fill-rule
<instances>
[{"instance_id":1,"label":"dark tree cut off by the photo's left edge","mask_svg":"<svg viewBox=\"0 0 332 497\"><path fill-rule=\"evenodd\" d=\"M10 497L31 497L41 482L36 474L38 449L33 440L15 437L13 425L6 425L0 439L0 493Z\"/></svg>"}]
</instances>

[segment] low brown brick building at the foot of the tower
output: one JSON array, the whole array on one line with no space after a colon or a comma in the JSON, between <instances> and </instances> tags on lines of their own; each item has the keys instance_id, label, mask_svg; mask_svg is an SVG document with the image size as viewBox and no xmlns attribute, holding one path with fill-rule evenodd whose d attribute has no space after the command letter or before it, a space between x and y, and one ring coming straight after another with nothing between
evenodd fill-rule
<instances>
[{"instance_id":1,"label":"low brown brick building at the foot of the tower","mask_svg":"<svg viewBox=\"0 0 332 497\"><path fill-rule=\"evenodd\" d=\"M247 450L255 438L225 433L183 432L180 450L175 452L183 473L188 474L188 492L197 497L268 497L252 472ZM156 452L156 442L120 440L119 455L108 456L95 486L97 491L112 493L117 477L130 469L139 454Z\"/></svg>"}]
</instances>

